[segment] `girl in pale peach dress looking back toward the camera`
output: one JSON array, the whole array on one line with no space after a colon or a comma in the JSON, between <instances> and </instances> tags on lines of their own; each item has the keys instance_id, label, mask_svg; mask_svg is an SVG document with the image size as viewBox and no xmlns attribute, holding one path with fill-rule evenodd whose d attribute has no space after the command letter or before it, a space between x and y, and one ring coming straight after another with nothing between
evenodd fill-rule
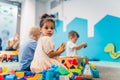
<instances>
[{"instance_id":1,"label":"girl in pale peach dress looking back toward the camera","mask_svg":"<svg viewBox=\"0 0 120 80\"><path fill-rule=\"evenodd\" d=\"M54 50L55 45L52 38L54 29L55 21L52 19L52 16L44 14L40 21L41 36L31 63L31 71L41 72L42 70L49 68L52 64L58 66L62 65L58 60L58 56L65 49L61 48L60 50Z\"/></svg>"}]
</instances>

